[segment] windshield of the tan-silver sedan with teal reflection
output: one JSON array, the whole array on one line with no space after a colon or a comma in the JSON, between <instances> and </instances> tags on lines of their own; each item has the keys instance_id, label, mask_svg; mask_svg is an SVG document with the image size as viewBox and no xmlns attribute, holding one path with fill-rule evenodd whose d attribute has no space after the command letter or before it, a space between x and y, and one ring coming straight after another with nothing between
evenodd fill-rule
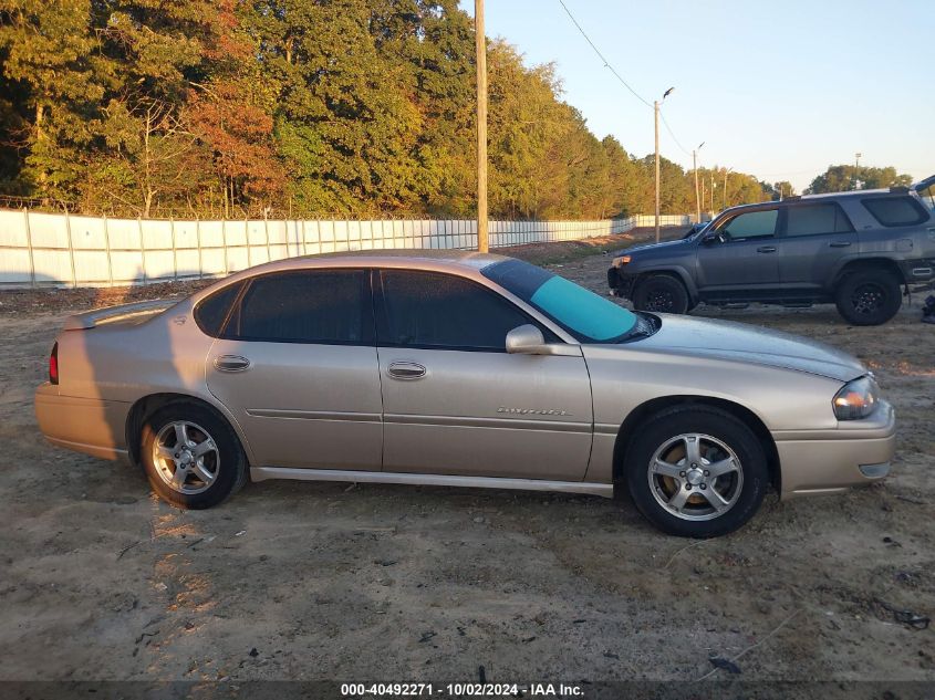
<instances>
[{"instance_id":1,"label":"windshield of the tan-silver sedan with teal reflection","mask_svg":"<svg viewBox=\"0 0 935 700\"><path fill-rule=\"evenodd\" d=\"M619 343L637 330L638 318L633 312L528 262L505 260L481 273L581 343Z\"/></svg>"}]
</instances>

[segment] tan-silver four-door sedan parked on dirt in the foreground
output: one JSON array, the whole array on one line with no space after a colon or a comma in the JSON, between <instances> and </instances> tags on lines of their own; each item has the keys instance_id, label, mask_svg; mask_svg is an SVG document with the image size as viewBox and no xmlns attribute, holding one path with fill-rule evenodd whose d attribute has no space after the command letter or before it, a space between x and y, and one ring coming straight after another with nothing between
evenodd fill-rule
<instances>
[{"instance_id":1,"label":"tan-silver four-door sedan parked on dirt in the foreground","mask_svg":"<svg viewBox=\"0 0 935 700\"><path fill-rule=\"evenodd\" d=\"M627 490L662 530L736 530L886 476L892 407L853 357L632 313L500 255L368 252L72 316L35 410L181 508L250 479Z\"/></svg>"}]
</instances>

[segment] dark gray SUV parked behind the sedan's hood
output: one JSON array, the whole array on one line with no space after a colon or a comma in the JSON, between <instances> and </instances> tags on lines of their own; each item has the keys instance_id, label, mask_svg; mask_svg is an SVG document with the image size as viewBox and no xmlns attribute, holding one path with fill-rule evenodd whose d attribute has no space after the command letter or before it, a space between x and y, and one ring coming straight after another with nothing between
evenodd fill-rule
<instances>
[{"instance_id":1,"label":"dark gray SUV parked behind the sedan's hood","mask_svg":"<svg viewBox=\"0 0 935 700\"><path fill-rule=\"evenodd\" d=\"M903 289L935 280L933 192L935 176L734 207L682 240L615 253L607 282L641 311L833 302L848 322L877 325Z\"/></svg>"}]
</instances>

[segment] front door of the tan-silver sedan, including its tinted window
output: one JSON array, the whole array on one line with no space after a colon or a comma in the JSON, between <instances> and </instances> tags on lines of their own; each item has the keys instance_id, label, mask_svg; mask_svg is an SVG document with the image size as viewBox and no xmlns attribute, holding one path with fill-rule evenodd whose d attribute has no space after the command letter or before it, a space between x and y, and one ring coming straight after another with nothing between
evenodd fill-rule
<instances>
[{"instance_id":1,"label":"front door of the tan-silver sedan, including its tinted window","mask_svg":"<svg viewBox=\"0 0 935 700\"><path fill-rule=\"evenodd\" d=\"M507 333L534 322L471 280L409 270L380 280L384 471L584 478L592 405L583 357L508 354Z\"/></svg>"}]
</instances>

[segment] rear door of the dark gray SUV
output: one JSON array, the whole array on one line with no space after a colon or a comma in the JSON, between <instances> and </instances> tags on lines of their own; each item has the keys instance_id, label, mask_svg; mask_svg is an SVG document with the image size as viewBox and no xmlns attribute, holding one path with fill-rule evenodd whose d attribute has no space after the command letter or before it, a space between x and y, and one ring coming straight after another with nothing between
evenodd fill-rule
<instances>
[{"instance_id":1,"label":"rear door of the dark gray SUV","mask_svg":"<svg viewBox=\"0 0 935 700\"><path fill-rule=\"evenodd\" d=\"M856 254L858 234L833 201L786 207L779 238L779 279L792 297L828 285L843 260Z\"/></svg>"}]
</instances>

